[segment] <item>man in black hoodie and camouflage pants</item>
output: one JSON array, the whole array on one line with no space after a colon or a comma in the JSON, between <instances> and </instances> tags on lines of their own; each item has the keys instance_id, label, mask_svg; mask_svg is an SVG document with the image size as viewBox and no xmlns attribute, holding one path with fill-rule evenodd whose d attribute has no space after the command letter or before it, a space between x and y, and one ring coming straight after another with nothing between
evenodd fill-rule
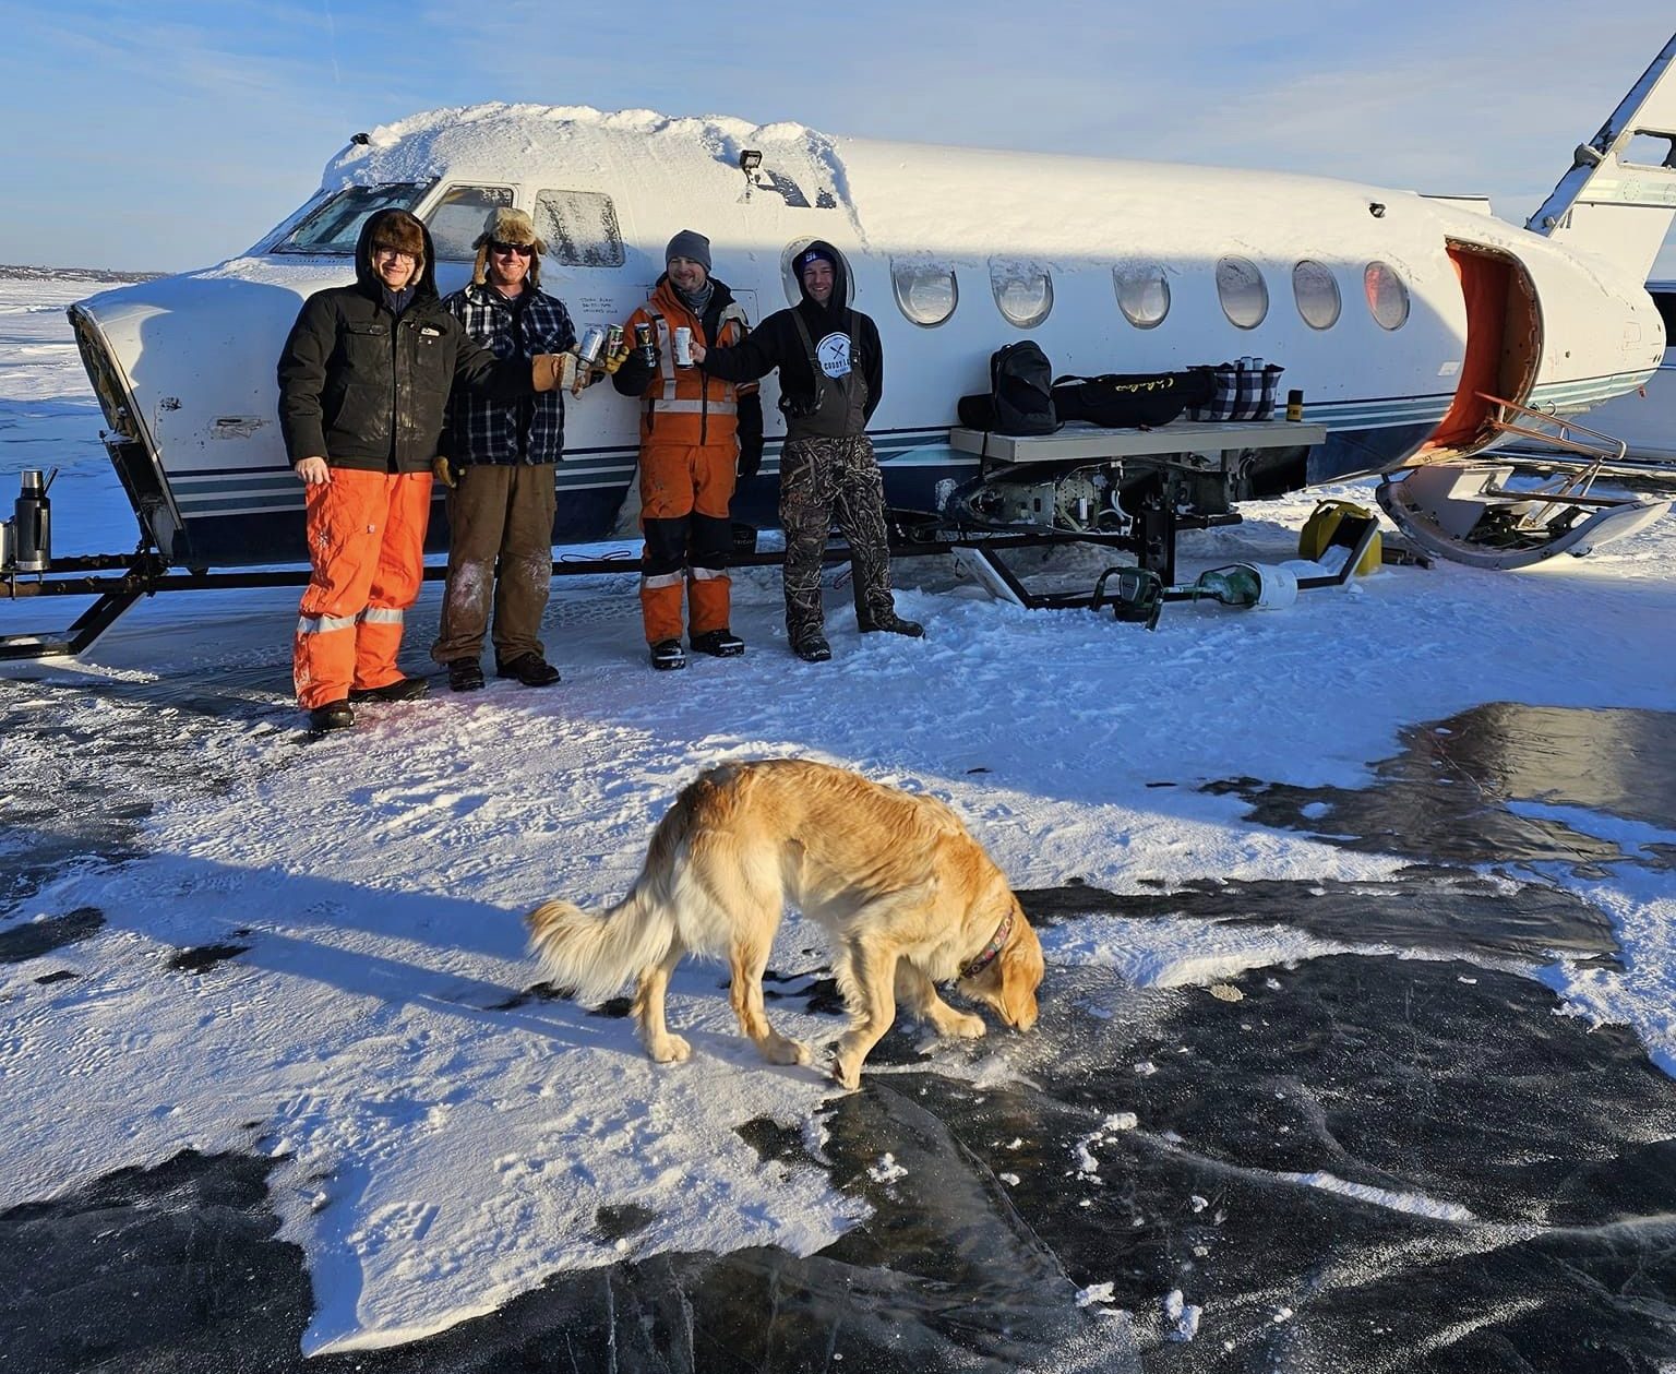
<instances>
[{"instance_id":1,"label":"man in black hoodie and camouflage pants","mask_svg":"<svg viewBox=\"0 0 1676 1374\"><path fill-rule=\"evenodd\" d=\"M821 553L833 519L850 545L855 618L861 633L920 637L890 591L885 479L866 422L885 387L878 327L851 310L850 268L815 240L793 260L803 298L763 320L732 349L697 354L712 377L756 380L779 369L786 446L779 457L779 523L786 531L786 635L810 664L831 659L823 632Z\"/></svg>"}]
</instances>

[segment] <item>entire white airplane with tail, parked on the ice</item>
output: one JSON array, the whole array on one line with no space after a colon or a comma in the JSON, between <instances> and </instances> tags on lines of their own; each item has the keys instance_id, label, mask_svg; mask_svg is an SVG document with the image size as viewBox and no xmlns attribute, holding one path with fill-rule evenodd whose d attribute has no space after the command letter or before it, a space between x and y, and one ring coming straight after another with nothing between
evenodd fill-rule
<instances>
[{"instance_id":1,"label":"entire white airplane with tail, parked on the ice","mask_svg":"<svg viewBox=\"0 0 1676 1374\"><path fill-rule=\"evenodd\" d=\"M1676 37L1527 228L1482 203L1302 174L479 104L355 134L320 189L245 253L69 315L142 541L169 568L300 561L303 489L280 442L275 360L302 300L352 280L365 218L419 214L446 293L468 280L488 211L508 204L535 218L543 285L578 333L627 320L677 230L711 238L716 275L753 322L796 302L801 246L836 245L853 305L883 338L872 437L887 503L922 528L992 531L996 511L1017 528L1041 508L1051 535L1123 535L1131 494L1187 459L1197 479L1168 488L1183 518L1195 503L1227 511L1379 476L1381 504L1420 543L1520 566L1668 508L1589 496L1587 459L1560 494L1512 491L1488 451L1510 417L1564 422L1661 364L1666 327L1642 283L1676 213L1673 57ZM1265 359L1321 441L1227 451L1163 426L1155 452L1128 457L994 462L959 447L959 397L987 390L991 354L1026 337L1063 374ZM769 379L763 471L734 508L746 521L773 523L774 399ZM555 543L632 528L635 449L632 400L610 387L568 399ZM1014 499L1042 491L1036 506ZM1093 508L1073 491L1093 491ZM441 518L431 533L442 540Z\"/></svg>"}]
</instances>

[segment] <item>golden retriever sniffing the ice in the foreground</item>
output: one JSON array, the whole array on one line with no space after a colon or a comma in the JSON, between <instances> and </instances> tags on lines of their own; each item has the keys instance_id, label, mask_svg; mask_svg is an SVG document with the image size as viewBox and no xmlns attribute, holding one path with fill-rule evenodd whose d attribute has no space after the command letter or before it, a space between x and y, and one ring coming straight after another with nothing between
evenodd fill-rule
<instances>
[{"instance_id":1,"label":"golden retriever sniffing the ice in the foreground","mask_svg":"<svg viewBox=\"0 0 1676 1374\"><path fill-rule=\"evenodd\" d=\"M726 957L739 1029L771 1064L808 1064L808 1046L768 1024L763 970L786 901L836 943L850 1010L833 1076L856 1087L861 1061L902 999L939 1036L975 1039L935 984L954 980L1007 1025L1036 1024L1042 947L1006 875L959 816L929 796L801 759L722 764L689 784L652 834L628 895L602 915L546 901L530 948L583 1000L637 979L634 1015L660 1064L692 1049L664 1024L669 975L689 950Z\"/></svg>"}]
</instances>

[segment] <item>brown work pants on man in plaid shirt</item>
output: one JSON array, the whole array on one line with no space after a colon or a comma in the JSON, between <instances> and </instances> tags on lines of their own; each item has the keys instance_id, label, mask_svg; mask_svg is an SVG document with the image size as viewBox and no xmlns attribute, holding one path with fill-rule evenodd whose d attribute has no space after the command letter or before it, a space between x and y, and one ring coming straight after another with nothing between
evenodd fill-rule
<instances>
[{"instance_id":1,"label":"brown work pants on man in plaid shirt","mask_svg":"<svg viewBox=\"0 0 1676 1374\"><path fill-rule=\"evenodd\" d=\"M447 493L447 586L431 657L476 660L494 612L496 665L545 657L541 615L553 588L551 462L463 467Z\"/></svg>"}]
</instances>

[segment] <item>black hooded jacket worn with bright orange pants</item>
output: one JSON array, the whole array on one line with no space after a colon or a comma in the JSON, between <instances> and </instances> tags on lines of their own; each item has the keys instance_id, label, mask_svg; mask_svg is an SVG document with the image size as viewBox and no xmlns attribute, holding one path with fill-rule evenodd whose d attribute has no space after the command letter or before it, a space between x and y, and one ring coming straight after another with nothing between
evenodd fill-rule
<instances>
[{"instance_id":1,"label":"black hooded jacket worn with bright orange pants","mask_svg":"<svg viewBox=\"0 0 1676 1374\"><path fill-rule=\"evenodd\" d=\"M308 297L280 354L280 432L292 464L323 457L334 467L427 473L453 387L496 400L535 390L528 359L498 362L442 308L436 251L422 225L412 300L401 315L391 312L372 268L380 214L367 220L355 243L355 285Z\"/></svg>"}]
</instances>

